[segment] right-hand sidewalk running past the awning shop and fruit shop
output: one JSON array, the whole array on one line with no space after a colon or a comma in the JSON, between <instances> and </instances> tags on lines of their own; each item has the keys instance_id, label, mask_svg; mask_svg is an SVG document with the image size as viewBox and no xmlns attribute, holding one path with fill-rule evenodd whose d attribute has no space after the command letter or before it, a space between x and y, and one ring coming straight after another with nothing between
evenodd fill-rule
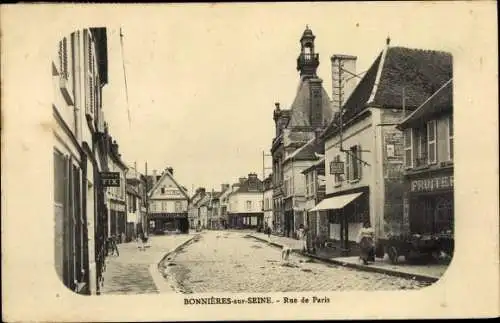
<instances>
[{"instance_id":1,"label":"right-hand sidewalk running past the awning shop and fruit shop","mask_svg":"<svg viewBox=\"0 0 500 323\"><path fill-rule=\"evenodd\" d=\"M262 233L254 232L249 234L249 236L268 242L269 239L267 235ZM271 236L271 245L281 248L284 244L290 246L294 249L295 252L302 254L301 245L299 240L287 238L287 237L279 237L279 236ZM378 272L382 274L398 276L409 279L416 279L420 281L427 282L435 282L441 278L446 269L447 265L442 264L430 264L430 265L410 265L410 264L392 264L389 260L377 258L375 263L371 263L369 265L363 265L359 261L359 257L334 257L327 258L317 255L306 254L307 256L320 260L329 262L332 264L345 266L349 268L355 268L364 271L372 271Z\"/></svg>"}]
</instances>

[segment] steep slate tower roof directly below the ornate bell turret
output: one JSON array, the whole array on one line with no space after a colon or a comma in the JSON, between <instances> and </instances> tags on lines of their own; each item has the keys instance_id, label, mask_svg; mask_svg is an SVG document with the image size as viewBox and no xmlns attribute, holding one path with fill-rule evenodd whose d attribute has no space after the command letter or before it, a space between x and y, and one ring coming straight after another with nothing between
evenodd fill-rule
<instances>
[{"instance_id":1,"label":"steep slate tower roof directly below the ornate bell turret","mask_svg":"<svg viewBox=\"0 0 500 323\"><path fill-rule=\"evenodd\" d=\"M318 79L312 79L317 81ZM311 79L302 79L299 83L299 88L295 99L290 108L291 116L288 122L287 128L294 127L310 127L309 116L311 111L311 90L310 90ZM328 93L325 91L323 86L321 87L321 109L323 115L323 123L328 123L332 117L333 107L330 102Z\"/></svg>"}]
</instances>

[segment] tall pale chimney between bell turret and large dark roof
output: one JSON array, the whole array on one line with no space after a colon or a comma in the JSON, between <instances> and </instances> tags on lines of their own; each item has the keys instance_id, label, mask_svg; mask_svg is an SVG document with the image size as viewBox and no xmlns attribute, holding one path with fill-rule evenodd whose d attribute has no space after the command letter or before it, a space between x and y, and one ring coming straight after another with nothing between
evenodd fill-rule
<instances>
[{"instance_id":1,"label":"tall pale chimney between bell turret and large dark roof","mask_svg":"<svg viewBox=\"0 0 500 323\"><path fill-rule=\"evenodd\" d=\"M360 78L356 77L356 60L352 55L333 55L332 61L332 101L333 111L340 111Z\"/></svg>"}]
</instances>

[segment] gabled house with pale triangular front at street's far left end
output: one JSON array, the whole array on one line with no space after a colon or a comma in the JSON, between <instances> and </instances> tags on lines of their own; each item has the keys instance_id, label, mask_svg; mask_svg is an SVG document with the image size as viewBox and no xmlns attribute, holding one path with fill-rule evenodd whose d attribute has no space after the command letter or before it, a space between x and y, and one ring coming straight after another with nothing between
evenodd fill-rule
<instances>
[{"instance_id":1,"label":"gabled house with pale triangular front at street's far left end","mask_svg":"<svg viewBox=\"0 0 500 323\"><path fill-rule=\"evenodd\" d=\"M188 192L175 180L173 168L166 168L158 177L148 192L149 232L163 234L178 230L187 233Z\"/></svg>"}]
</instances>

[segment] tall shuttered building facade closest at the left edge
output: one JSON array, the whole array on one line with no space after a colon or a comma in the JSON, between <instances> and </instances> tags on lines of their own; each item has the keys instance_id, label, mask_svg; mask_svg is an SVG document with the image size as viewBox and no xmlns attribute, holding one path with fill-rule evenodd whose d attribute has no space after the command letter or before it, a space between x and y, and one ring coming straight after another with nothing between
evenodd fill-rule
<instances>
[{"instance_id":1,"label":"tall shuttered building facade closest at the left edge","mask_svg":"<svg viewBox=\"0 0 500 323\"><path fill-rule=\"evenodd\" d=\"M105 28L63 37L52 60L54 100L55 269L81 294L99 293L105 239L106 170L102 88L107 84Z\"/></svg>"}]
</instances>

